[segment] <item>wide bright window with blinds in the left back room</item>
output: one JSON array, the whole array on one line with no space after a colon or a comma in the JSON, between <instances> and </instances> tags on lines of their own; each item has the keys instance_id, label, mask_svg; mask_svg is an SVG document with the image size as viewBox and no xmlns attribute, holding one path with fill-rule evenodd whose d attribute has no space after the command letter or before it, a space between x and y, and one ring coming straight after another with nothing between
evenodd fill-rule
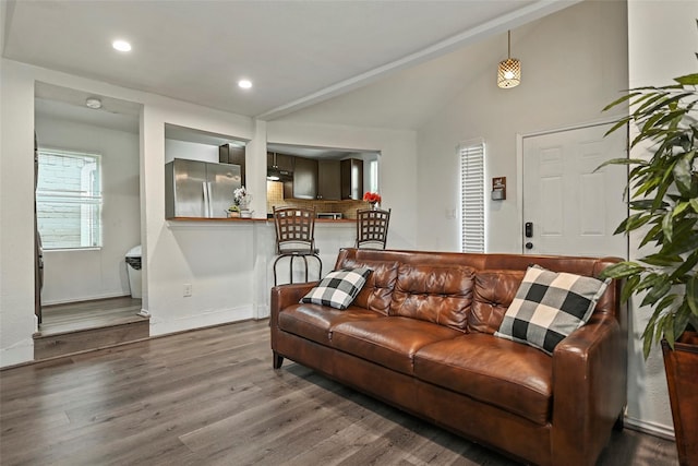
<instances>
[{"instance_id":1,"label":"wide bright window with blinds in the left back room","mask_svg":"<svg viewBox=\"0 0 698 466\"><path fill-rule=\"evenodd\" d=\"M39 150L36 219L44 249L101 247L101 164L96 154Z\"/></svg>"}]
</instances>

